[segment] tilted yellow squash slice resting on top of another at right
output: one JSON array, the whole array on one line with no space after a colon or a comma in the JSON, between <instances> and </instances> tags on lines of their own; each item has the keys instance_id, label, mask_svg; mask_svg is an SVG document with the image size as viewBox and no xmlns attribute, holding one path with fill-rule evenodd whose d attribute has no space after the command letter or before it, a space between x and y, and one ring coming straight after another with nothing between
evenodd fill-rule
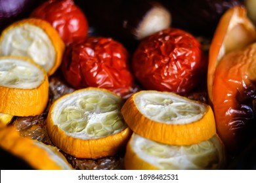
<instances>
[{"instance_id":1,"label":"tilted yellow squash slice resting on top of another at right","mask_svg":"<svg viewBox=\"0 0 256 183\"><path fill-rule=\"evenodd\" d=\"M209 105L171 92L137 92L127 99L121 112L132 131L165 144L197 144L216 133Z\"/></svg>"}]
</instances>

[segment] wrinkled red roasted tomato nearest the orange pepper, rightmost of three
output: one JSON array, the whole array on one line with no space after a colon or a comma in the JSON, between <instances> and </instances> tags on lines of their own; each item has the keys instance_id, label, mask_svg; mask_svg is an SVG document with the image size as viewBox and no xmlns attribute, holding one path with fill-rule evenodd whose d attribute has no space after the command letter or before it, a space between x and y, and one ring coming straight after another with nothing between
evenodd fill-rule
<instances>
[{"instance_id":1,"label":"wrinkled red roasted tomato nearest the orange pepper, rightmost of three","mask_svg":"<svg viewBox=\"0 0 256 183\"><path fill-rule=\"evenodd\" d=\"M133 54L133 71L148 90L187 94L207 71L201 44L181 29L169 28L140 42Z\"/></svg>"}]
</instances>

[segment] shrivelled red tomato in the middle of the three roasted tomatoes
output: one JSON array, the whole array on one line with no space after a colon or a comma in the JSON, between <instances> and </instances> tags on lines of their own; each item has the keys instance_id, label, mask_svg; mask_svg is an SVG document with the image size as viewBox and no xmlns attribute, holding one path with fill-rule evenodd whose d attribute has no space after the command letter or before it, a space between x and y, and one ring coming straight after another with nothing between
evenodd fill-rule
<instances>
[{"instance_id":1,"label":"shrivelled red tomato in the middle of the three roasted tomatoes","mask_svg":"<svg viewBox=\"0 0 256 183\"><path fill-rule=\"evenodd\" d=\"M68 84L76 89L93 86L124 95L133 87L128 58L119 42L88 37L67 47L61 69Z\"/></svg>"}]
</instances>

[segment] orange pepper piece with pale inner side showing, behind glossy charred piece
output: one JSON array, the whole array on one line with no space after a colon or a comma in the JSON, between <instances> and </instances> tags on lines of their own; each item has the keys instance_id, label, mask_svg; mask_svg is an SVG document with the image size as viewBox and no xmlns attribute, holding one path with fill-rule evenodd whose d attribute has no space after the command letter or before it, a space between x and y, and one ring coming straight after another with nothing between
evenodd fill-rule
<instances>
[{"instance_id":1,"label":"orange pepper piece with pale inner side showing, behind glossy charred piece","mask_svg":"<svg viewBox=\"0 0 256 183\"><path fill-rule=\"evenodd\" d=\"M255 27L247 18L246 9L236 6L227 10L217 25L209 49L207 92L210 103L213 95L215 69L221 58L228 52L244 48L254 41L256 41Z\"/></svg>"}]
</instances>

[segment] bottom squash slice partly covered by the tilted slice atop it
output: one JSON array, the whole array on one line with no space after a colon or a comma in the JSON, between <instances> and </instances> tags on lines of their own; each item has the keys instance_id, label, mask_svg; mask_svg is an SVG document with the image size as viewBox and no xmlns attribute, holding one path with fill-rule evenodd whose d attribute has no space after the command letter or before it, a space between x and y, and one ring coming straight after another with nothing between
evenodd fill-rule
<instances>
[{"instance_id":1,"label":"bottom squash slice partly covered by the tilted slice atop it","mask_svg":"<svg viewBox=\"0 0 256 183\"><path fill-rule=\"evenodd\" d=\"M223 169L224 146L217 135L190 146L171 146L133 133L125 152L125 169Z\"/></svg>"}]
</instances>

